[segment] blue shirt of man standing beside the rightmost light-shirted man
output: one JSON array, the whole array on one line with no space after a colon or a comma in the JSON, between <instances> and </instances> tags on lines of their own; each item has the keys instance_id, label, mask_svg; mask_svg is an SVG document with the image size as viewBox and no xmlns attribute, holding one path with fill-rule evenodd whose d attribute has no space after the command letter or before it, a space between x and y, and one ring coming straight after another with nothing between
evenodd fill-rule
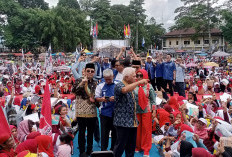
<instances>
[{"instance_id":1,"label":"blue shirt of man standing beside the rightmost light-shirted man","mask_svg":"<svg viewBox=\"0 0 232 157\"><path fill-rule=\"evenodd\" d=\"M165 80L173 80L173 72L176 71L176 65L173 62L163 63L163 78Z\"/></svg>"}]
</instances>

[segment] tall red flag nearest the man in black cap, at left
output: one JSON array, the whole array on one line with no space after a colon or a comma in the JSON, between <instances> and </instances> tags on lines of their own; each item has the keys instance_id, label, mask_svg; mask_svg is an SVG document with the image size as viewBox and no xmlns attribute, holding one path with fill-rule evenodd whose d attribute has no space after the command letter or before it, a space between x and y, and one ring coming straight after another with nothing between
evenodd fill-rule
<instances>
[{"instance_id":1,"label":"tall red flag nearest the man in black cap, at left","mask_svg":"<svg viewBox=\"0 0 232 157\"><path fill-rule=\"evenodd\" d=\"M42 135L52 135L51 100L48 80L46 81L44 97L42 102L39 131Z\"/></svg>"}]
</instances>

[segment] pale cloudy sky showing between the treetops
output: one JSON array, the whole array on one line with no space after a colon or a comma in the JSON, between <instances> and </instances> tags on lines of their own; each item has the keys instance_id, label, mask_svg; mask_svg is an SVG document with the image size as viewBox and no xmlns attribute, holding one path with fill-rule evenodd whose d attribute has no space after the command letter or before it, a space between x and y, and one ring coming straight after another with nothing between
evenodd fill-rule
<instances>
[{"instance_id":1,"label":"pale cloudy sky showing between the treetops","mask_svg":"<svg viewBox=\"0 0 232 157\"><path fill-rule=\"evenodd\" d=\"M58 0L45 0L49 6L56 6ZM218 4L222 4L226 0L218 0ZM128 5L130 0L111 0L111 4ZM176 8L182 6L180 0L145 0L144 9L148 18L154 17L157 23L163 23L164 27L168 29L175 24L174 11Z\"/></svg>"}]
</instances>

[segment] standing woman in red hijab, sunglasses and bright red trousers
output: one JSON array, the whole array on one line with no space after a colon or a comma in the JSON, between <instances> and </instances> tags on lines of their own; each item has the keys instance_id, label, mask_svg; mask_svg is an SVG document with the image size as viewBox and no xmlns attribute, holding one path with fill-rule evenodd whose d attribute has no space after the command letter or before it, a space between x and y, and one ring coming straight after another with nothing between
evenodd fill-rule
<instances>
[{"instance_id":1,"label":"standing woman in red hijab, sunglasses and bright red trousers","mask_svg":"<svg viewBox=\"0 0 232 157\"><path fill-rule=\"evenodd\" d=\"M137 81L148 79L146 70L136 72ZM139 126L137 128L136 150L144 151L144 156L149 156L152 144L152 118L155 115L156 95L151 84L140 84L135 89L136 111ZM152 115L153 114L153 115Z\"/></svg>"}]
</instances>

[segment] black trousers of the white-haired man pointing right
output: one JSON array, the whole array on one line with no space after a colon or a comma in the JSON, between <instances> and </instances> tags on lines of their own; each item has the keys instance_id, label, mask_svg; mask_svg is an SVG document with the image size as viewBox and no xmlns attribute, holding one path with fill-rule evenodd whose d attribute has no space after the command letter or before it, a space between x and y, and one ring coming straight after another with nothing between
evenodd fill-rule
<instances>
[{"instance_id":1,"label":"black trousers of the white-haired man pointing right","mask_svg":"<svg viewBox=\"0 0 232 157\"><path fill-rule=\"evenodd\" d=\"M114 156L121 157L124 150L126 157L134 157L137 128L116 126L117 140L114 146Z\"/></svg>"}]
</instances>

